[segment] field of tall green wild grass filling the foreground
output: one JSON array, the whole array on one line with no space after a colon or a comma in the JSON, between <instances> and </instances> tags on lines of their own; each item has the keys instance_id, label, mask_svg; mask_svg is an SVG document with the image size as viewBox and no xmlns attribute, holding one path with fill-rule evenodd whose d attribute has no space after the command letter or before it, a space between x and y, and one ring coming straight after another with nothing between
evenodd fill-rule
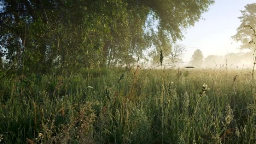
<instances>
[{"instance_id":1,"label":"field of tall green wild grass filling the foreground","mask_svg":"<svg viewBox=\"0 0 256 144\"><path fill-rule=\"evenodd\" d=\"M255 144L255 90L226 68L7 74L0 143Z\"/></svg>"}]
</instances>

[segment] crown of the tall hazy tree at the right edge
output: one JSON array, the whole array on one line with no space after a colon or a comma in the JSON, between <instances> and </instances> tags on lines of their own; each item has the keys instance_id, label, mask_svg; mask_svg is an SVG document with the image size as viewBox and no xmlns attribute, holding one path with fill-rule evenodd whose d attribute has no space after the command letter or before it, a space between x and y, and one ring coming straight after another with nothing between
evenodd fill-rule
<instances>
[{"instance_id":1,"label":"crown of the tall hazy tree at the right edge","mask_svg":"<svg viewBox=\"0 0 256 144\"><path fill-rule=\"evenodd\" d=\"M232 36L232 39L242 43L241 48L249 48L250 40L256 41L255 36L252 34L252 30L249 27L244 27L245 25L251 25L256 29L256 3L247 4L245 10L240 10L242 16L238 17L241 21L240 26L237 28L237 34Z\"/></svg>"}]
</instances>

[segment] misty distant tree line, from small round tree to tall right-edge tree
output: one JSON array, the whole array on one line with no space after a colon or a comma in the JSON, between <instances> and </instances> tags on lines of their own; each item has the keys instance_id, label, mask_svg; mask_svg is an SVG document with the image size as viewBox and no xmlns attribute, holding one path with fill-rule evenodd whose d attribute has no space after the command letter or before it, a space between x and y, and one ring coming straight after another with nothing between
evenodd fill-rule
<instances>
[{"instance_id":1,"label":"misty distant tree line, from small round tree to tall right-edge tree","mask_svg":"<svg viewBox=\"0 0 256 144\"><path fill-rule=\"evenodd\" d=\"M252 66L253 54L256 53L256 3L247 4L245 10L240 10L242 16L238 17L241 21L237 28L237 33L232 36L232 39L240 42L240 49L250 49L247 53L229 53L225 56L209 55L204 58L201 50L197 49L192 55L190 64L196 67L217 67L223 64L237 67ZM254 52L253 52L254 51Z\"/></svg>"}]
</instances>

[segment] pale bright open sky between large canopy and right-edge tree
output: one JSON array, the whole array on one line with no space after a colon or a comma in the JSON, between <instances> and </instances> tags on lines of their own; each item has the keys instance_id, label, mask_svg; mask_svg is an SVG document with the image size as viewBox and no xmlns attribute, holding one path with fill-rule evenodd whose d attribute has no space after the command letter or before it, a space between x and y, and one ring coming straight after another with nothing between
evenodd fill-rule
<instances>
[{"instance_id":1,"label":"pale bright open sky between large canopy and right-edge tree","mask_svg":"<svg viewBox=\"0 0 256 144\"><path fill-rule=\"evenodd\" d=\"M240 10L256 0L215 0L208 12L202 14L200 21L190 27L184 34L185 38L177 43L185 46L187 51L182 57L184 62L189 62L196 49L200 49L206 58L208 55L226 55L237 53L239 43L231 39L236 34L236 29L241 24Z\"/></svg>"}]
</instances>

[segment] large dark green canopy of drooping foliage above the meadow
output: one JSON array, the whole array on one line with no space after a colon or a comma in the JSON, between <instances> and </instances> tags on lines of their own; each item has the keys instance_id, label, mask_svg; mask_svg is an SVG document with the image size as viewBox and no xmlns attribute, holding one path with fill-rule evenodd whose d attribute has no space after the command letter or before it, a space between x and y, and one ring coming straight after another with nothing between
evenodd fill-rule
<instances>
[{"instance_id":1,"label":"large dark green canopy of drooping foliage above the meadow","mask_svg":"<svg viewBox=\"0 0 256 144\"><path fill-rule=\"evenodd\" d=\"M127 64L170 50L214 0L0 0L4 67L47 72Z\"/></svg>"}]
</instances>

